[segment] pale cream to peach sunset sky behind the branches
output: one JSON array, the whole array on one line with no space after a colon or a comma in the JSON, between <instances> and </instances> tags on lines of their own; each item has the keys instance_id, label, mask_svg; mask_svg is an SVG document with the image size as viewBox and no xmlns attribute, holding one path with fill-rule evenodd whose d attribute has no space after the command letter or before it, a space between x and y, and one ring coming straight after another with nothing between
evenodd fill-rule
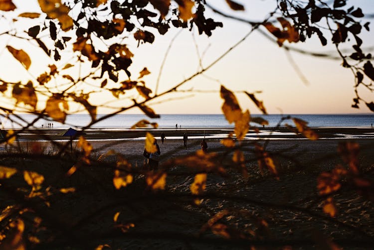
<instances>
[{"instance_id":1,"label":"pale cream to peach sunset sky behind the branches","mask_svg":"<svg viewBox=\"0 0 374 250\"><path fill-rule=\"evenodd\" d=\"M13 1L20 12L23 9L40 12L36 0L28 0L27 3L22 0ZM225 13L250 20L263 20L276 4L274 0L237 0L244 4L246 10L234 12L228 8L224 0L207 0L207 2ZM360 6L364 13L374 13L373 0L350 0L349 3ZM148 88L155 91L162 61L168 47L171 46L157 92L162 93L193 75L199 69L199 58L201 58L201 65L206 67L243 38L251 28L248 24L221 17L210 10L207 13L216 21L223 22L223 28L213 30L211 37L198 35L195 28L192 31L183 30L180 33L178 33L179 30L172 29L166 35L157 35L153 44L147 43L137 47L136 43L129 42L129 48L135 54L130 67L132 76L136 79L138 72L147 67L151 74L145 76L144 81ZM362 31L363 47L374 45L374 25L371 24L370 28L371 32L365 29ZM1 30L3 29L4 26ZM327 39L330 41L329 38ZM18 48L24 46L18 43L17 39L0 37L0 68L5 69L0 72L0 78L7 81L21 79L23 83L26 83L30 74L24 72L22 66L4 49L6 44L14 44ZM332 44L322 47L316 37L306 43L289 44L286 42L285 44L307 51L334 51ZM352 44L344 46L351 48ZM30 54L31 59L37 58L33 60L30 72L42 73L49 59L32 46L25 47L24 50ZM307 82L299 77L289 57L297 64ZM65 63L66 61L59 62L57 66L61 67ZM73 71L69 73L74 75ZM35 75L37 77L38 74L31 74L31 77ZM370 113L365 104L361 104L360 109L351 108L352 99L355 97L354 76L349 69L341 66L340 60L320 59L296 52L290 52L290 55L287 55L284 49L257 31L249 35L244 42L203 75L192 79L178 89L184 92L168 94L149 104L159 114L220 114L223 103L219 96L220 85L234 91L242 110L249 109L252 114L258 114L260 111L241 91L260 92L256 94L256 97L263 101L269 114ZM373 94L365 89L360 89L360 95L369 102L374 101ZM109 99L113 99L110 94L96 94L91 96L90 102L99 105L106 103ZM126 100L111 103L115 107L124 107L127 104L129 102ZM98 113L111 111L101 108ZM128 111L130 114L139 112L137 109Z\"/></svg>"}]
</instances>

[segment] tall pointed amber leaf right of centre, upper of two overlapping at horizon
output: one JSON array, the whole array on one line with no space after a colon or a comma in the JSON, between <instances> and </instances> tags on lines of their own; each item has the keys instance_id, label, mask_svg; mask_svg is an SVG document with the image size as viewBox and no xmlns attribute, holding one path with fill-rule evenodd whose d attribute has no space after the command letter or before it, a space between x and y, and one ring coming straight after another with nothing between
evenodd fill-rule
<instances>
[{"instance_id":1,"label":"tall pointed amber leaf right of centre, upper of two overlapping at horizon","mask_svg":"<svg viewBox=\"0 0 374 250\"><path fill-rule=\"evenodd\" d=\"M240 120L242 113L235 95L221 85L221 98L224 100L222 111L227 122L233 123Z\"/></svg>"}]
</instances>

